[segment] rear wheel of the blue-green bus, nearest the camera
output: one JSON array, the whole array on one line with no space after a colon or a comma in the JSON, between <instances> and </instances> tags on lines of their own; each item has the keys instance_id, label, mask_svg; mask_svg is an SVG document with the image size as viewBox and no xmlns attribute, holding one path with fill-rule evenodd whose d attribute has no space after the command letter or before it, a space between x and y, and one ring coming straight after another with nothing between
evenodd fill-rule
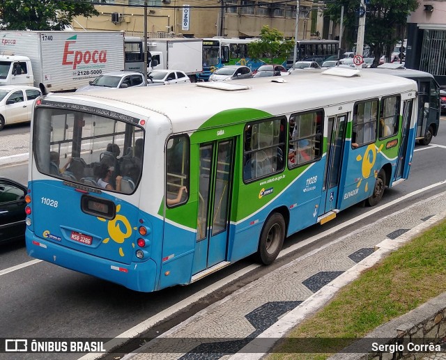
<instances>
[{"instance_id":1,"label":"rear wheel of the blue-green bus, nearest the camera","mask_svg":"<svg viewBox=\"0 0 446 360\"><path fill-rule=\"evenodd\" d=\"M263 225L257 249L257 260L270 265L282 250L285 239L285 220L279 212L273 213Z\"/></svg>"}]
</instances>

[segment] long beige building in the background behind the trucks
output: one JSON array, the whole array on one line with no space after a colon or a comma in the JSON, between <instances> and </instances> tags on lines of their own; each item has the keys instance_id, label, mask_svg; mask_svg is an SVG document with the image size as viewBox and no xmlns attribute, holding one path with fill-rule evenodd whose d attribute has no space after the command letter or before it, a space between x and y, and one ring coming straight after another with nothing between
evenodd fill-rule
<instances>
[{"instance_id":1,"label":"long beige building in the background behind the trucks","mask_svg":"<svg viewBox=\"0 0 446 360\"><path fill-rule=\"evenodd\" d=\"M148 37L252 38L268 25L286 38L295 35L296 3L273 0L101 0L98 17L76 17L75 30L125 31L141 36L144 3L147 4ZM317 2L302 0L299 7L298 39L334 39L332 22L322 16ZM338 31L339 32L339 31Z\"/></svg>"}]
</instances>

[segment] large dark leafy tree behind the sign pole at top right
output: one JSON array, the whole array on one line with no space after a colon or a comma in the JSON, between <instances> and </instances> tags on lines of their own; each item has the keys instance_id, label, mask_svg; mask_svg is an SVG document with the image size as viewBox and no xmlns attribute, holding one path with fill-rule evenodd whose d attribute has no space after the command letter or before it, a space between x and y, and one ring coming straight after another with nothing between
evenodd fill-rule
<instances>
[{"instance_id":1,"label":"large dark leafy tree behind the sign pole at top right","mask_svg":"<svg viewBox=\"0 0 446 360\"><path fill-rule=\"evenodd\" d=\"M360 3L357 0L337 0L327 4L324 15L339 23L341 6L345 11L343 39L348 47L353 47L357 40L357 10ZM374 54L375 64L385 50L390 56L393 46L403 38L408 15L417 8L417 0L370 0L365 15L364 44L369 45Z\"/></svg>"}]
</instances>

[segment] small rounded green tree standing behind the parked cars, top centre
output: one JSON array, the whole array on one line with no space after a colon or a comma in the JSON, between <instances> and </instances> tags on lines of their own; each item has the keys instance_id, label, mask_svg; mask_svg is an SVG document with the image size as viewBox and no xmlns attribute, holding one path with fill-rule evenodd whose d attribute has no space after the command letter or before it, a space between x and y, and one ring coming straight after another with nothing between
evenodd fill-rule
<instances>
[{"instance_id":1,"label":"small rounded green tree standing behind the parked cars, top centre","mask_svg":"<svg viewBox=\"0 0 446 360\"><path fill-rule=\"evenodd\" d=\"M262 27L260 40L251 42L248 55L251 58L267 59L269 63L284 62L294 49L293 40L284 40L284 34L268 25Z\"/></svg>"}]
</instances>

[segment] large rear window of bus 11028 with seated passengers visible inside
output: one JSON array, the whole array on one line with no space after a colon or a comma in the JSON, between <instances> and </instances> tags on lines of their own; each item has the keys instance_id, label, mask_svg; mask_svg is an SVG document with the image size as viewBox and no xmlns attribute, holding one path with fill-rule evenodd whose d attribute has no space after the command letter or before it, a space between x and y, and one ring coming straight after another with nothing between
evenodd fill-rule
<instances>
[{"instance_id":1,"label":"large rear window of bus 11028 with seated passengers visible inside","mask_svg":"<svg viewBox=\"0 0 446 360\"><path fill-rule=\"evenodd\" d=\"M105 116L48 108L36 109L35 124L33 152L40 173L125 194L136 189L143 160L141 128Z\"/></svg>"}]
</instances>

